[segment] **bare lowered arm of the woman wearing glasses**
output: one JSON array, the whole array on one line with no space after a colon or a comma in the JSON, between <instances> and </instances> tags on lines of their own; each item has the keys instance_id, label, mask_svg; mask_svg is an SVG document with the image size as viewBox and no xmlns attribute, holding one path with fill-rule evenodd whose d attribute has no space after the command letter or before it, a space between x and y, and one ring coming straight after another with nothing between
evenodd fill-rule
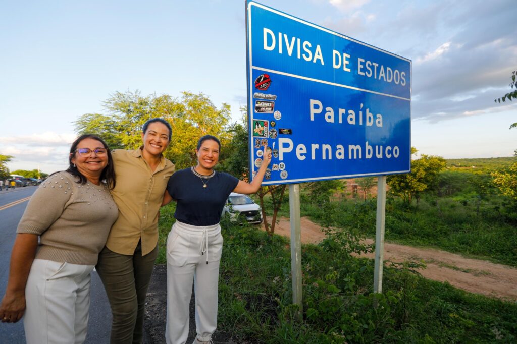
<instances>
[{"instance_id":1,"label":"bare lowered arm of the woman wearing glasses","mask_svg":"<svg viewBox=\"0 0 517 344\"><path fill-rule=\"evenodd\" d=\"M38 247L36 234L18 233L12 246L9 280L2 304L2 322L17 322L25 311L25 285Z\"/></svg>"}]
</instances>

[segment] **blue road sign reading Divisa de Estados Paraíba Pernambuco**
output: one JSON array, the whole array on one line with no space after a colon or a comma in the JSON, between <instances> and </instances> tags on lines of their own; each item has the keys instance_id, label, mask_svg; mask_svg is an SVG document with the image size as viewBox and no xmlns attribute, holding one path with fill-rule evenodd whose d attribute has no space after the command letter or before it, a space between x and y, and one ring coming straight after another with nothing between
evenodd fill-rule
<instances>
[{"instance_id":1,"label":"blue road sign reading Divisa de Estados Para\u00edba Pernambuco","mask_svg":"<svg viewBox=\"0 0 517 344\"><path fill-rule=\"evenodd\" d=\"M247 5L250 171L263 184L410 171L411 61Z\"/></svg>"}]
</instances>

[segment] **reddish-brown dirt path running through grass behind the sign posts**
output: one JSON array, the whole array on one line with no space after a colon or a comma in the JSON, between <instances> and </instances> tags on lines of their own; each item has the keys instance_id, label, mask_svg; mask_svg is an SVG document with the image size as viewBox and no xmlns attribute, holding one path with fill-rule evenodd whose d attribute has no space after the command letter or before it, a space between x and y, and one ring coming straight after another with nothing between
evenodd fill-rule
<instances>
[{"instance_id":1,"label":"reddish-brown dirt path running through grass behind the sign posts","mask_svg":"<svg viewBox=\"0 0 517 344\"><path fill-rule=\"evenodd\" d=\"M268 223L271 223L270 218L268 218ZM262 228L264 229L264 225ZM275 227L275 233L284 237L291 236L288 218L280 219ZM302 243L317 243L324 237L321 226L314 224L309 218L301 218ZM367 242L372 243L373 240L368 239ZM373 258L373 254L370 254L369 257ZM420 270L420 273L426 278L440 282L447 281L454 287L473 293L517 300L517 269L506 265L464 258L433 248L392 243L384 244L384 260L399 262L423 260L427 264L427 268Z\"/></svg>"}]
</instances>

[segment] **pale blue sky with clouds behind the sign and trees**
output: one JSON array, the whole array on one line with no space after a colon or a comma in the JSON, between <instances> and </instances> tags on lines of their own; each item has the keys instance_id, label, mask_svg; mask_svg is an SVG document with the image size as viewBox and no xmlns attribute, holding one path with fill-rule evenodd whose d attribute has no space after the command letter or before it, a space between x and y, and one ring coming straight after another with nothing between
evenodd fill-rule
<instances>
[{"instance_id":1,"label":"pale blue sky with clouds behind the sign and trees","mask_svg":"<svg viewBox=\"0 0 517 344\"><path fill-rule=\"evenodd\" d=\"M412 60L419 153L509 157L517 148L515 0L262 0ZM73 121L116 91L202 92L233 121L246 105L244 0L0 0L0 154L9 169L66 168Z\"/></svg>"}]
</instances>

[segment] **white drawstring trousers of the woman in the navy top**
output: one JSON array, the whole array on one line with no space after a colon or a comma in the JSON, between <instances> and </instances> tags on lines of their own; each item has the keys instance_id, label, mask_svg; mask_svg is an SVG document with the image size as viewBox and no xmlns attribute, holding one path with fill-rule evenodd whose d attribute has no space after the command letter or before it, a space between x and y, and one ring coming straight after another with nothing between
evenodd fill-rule
<instances>
[{"instance_id":1,"label":"white drawstring trousers of the woman in the navy top","mask_svg":"<svg viewBox=\"0 0 517 344\"><path fill-rule=\"evenodd\" d=\"M223 238L219 224L176 222L167 238L167 344L184 344L189 334L192 279L197 339L209 341L217 327L217 288Z\"/></svg>"}]
</instances>

